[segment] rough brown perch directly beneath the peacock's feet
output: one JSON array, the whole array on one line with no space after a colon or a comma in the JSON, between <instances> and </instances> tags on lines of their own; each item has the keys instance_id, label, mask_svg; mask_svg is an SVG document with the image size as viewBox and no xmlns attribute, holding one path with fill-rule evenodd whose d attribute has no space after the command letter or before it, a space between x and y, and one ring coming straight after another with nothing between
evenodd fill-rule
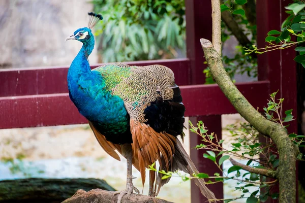
<instances>
[{"instance_id":1,"label":"rough brown perch directly beneath the peacock's feet","mask_svg":"<svg viewBox=\"0 0 305 203\"><path fill-rule=\"evenodd\" d=\"M117 201L118 195L113 195L113 192L94 189L88 192L84 190L77 190L77 192L70 198L66 199L62 203L113 203ZM166 201L163 199L158 199L155 197L150 197L141 194L130 195L130 199L125 195L122 199L124 203L173 203L171 201Z\"/></svg>"}]
</instances>

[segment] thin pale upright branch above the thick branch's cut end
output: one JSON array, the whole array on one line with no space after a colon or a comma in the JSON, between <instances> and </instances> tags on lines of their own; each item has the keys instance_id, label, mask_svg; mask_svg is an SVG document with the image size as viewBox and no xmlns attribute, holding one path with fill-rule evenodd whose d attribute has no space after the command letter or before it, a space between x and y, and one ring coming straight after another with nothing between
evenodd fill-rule
<instances>
[{"instance_id":1,"label":"thin pale upright branch above the thick branch's cut end","mask_svg":"<svg viewBox=\"0 0 305 203\"><path fill-rule=\"evenodd\" d=\"M220 1L212 1L212 43L216 51L221 54L221 11Z\"/></svg>"}]
</instances>

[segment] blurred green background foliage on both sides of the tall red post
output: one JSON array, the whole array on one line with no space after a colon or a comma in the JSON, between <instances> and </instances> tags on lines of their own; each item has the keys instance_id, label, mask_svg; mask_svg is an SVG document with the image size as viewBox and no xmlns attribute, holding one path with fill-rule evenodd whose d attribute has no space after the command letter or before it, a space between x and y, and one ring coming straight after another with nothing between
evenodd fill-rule
<instances>
[{"instance_id":1,"label":"blurred green background foliage on both sides of the tall red post","mask_svg":"<svg viewBox=\"0 0 305 203\"><path fill-rule=\"evenodd\" d=\"M256 44L256 23L253 23L256 11L251 9L255 1L240 5L242 1L226 1L222 11L230 12L251 46ZM104 17L96 30L99 62L186 57L184 0L93 0L92 3L95 12ZM222 22L223 46L232 38L235 36ZM250 78L257 77L257 57L245 55L243 46L237 38L233 53L223 52L225 67L232 79L245 73ZM206 84L215 83L208 68L203 74Z\"/></svg>"}]
</instances>

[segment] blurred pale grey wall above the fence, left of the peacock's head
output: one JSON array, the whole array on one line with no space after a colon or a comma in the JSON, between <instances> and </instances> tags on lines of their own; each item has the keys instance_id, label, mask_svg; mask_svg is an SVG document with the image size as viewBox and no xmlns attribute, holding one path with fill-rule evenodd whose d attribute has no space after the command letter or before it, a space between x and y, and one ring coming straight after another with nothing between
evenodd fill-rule
<instances>
[{"instance_id":1,"label":"blurred pale grey wall above the fence, left of the peacock's head","mask_svg":"<svg viewBox=\"0 0 305 203\"><path fill-rule=\"evenodd\" d=\"M70 65L81 43L65 38L90 11L86 0L0 0L0 68ZM89 59L97 62L96 50Z\"/></svg>"}]
</instances>

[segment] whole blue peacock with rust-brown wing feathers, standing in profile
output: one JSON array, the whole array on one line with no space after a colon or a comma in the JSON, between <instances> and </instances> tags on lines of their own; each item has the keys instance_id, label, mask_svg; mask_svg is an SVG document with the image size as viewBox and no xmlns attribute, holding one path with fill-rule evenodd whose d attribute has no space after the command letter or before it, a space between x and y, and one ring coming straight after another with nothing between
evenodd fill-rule
<instances>
[{"instance_id":1,"label":"whole blue peacock with rust-brown wing feathers, standing in profile","mask_svg":"<svg viewBox=\"0 0 305 203\"><path fill-rule=\"evenodd\" d=\"M199 173L177 139L184 133L185 106L173 72L163 65L129 66L106 64L90 70L88 56L94 49L92 28L103 19L88 13L87 27L77 29L67 40L83 43L68 71L70 99L93 130L101 147L113 158L118 153L127 159L126 189L116 192L117 202L139 190L133 185L132 165L140 171L142 184L145 168L159 162L159 171ZM117 153L118 152L118 153ZM157 196L169 181L149 171L149 195ZM216 199L203 179L194 179L201 193Z\"/></svg>"}]
</instances>

